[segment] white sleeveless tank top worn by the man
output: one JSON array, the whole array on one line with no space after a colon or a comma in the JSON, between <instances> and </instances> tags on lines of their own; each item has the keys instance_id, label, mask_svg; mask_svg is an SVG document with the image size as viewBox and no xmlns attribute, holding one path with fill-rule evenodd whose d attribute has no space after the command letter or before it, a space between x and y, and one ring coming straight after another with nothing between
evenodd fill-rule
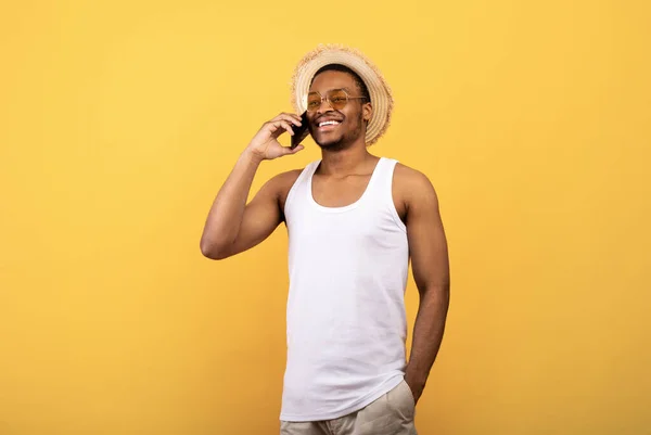
<instances>
[{"instance_id":1,"label":"white sleeveless tank top worn by the man","mask_svg":"<svg viewBox=\"0 0 651 435\"><path fill-rule=\"evenodd\" d=\"M320 161L301 172L288 194L281 420L346 415L404 378L409 248L392 197L396 163L381 158L361 197L344 207L314 200L312 175Z\"/></svg>"}]
</instances>

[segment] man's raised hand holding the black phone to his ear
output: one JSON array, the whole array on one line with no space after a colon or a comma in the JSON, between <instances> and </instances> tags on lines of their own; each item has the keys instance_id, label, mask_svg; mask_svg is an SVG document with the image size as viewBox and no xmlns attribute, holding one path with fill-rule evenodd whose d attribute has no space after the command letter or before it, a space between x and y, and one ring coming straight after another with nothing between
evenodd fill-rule
<instances>
[{"instance_id":1,"label":"man's raised hand holding the black phone to his ear","mask_svg":"<svg viewBox=\"0 0 651 435\"><path fill-rule=\"evenodd\" d=\"M273 119L263 124L263 127L251 140L247 150L260 161L270 161L283 155L296 154L303 150L303 145L298 145L292 150L290 146L283 146L278 142L280 135L285 131L292 136L294 135L292 125L301 126L301 117L294 114L281 113Z\"/></svg>"}]
</instances>

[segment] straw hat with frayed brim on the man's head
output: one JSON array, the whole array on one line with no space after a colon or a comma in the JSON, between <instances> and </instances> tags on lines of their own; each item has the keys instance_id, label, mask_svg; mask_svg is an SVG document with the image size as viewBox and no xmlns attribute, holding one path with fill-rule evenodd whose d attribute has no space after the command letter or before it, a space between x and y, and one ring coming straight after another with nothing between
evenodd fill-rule
<instances>
[{"instance_id":1,"label":"straw hat with frayed brim on the man's head","mask_svg":"<svg viewBox=\"0 0 651 435\"><path fill-rule=\"evenodd\" d=\"M371 145L386 131L393 111L392 91L382 73L362 53L339 44L320 44L307 53L296 66L292 76L292 104L296 113L307 108L307 93L311 79L317 71L330 64L349 67L363 80L373 105L373 114L367 126L366 143Z\"/></svg>"}]
</instances>

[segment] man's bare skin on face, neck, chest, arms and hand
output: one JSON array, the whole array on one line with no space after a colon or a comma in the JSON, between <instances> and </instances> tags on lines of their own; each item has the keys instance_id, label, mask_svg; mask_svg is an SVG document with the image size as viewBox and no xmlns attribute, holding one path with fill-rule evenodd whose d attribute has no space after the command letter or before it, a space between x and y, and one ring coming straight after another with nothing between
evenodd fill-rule
<instances>
[{"instance_id":1,"label":"man's bare skin on face, neck, chest, arms and hand","mask_svg":"<svg viewBox=\"0 0 651 435\"><path fill-rule=\"evenodd\" d=\"M310 88L321 94L331 89L347 89L360 95L354 78L342 72L319 74ZM315 172L312 195L323 206L340 207L357 201L363 193L379 157L365 143L366 125L373 113L370 102L350 100L341 111L322 102L308 113L309 131L321 148L322 161ZM336 119L335 127L319 128L321 120ZM202 253L222 259L252 248L266 240L284 221L288 193L301 169L280 174L265 183L247 204L255 172L263 161L295 154L278 142L291 126L301 125L299 116L280 114L265 123L215 199L201 239ZM448 250L438 199L422 172L398 164L394 172L393 199L407 227L413 279L419 292L419 308L405 380L418 402L443 340L449 305Z\"/></svg>"}]
</instances>

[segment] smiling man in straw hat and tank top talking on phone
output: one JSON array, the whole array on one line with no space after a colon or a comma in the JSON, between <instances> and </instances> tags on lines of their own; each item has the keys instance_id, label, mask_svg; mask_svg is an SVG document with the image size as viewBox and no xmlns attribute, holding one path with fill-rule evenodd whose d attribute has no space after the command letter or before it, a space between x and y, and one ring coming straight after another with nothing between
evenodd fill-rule
<instances>
[{"instance_id":1,"label":"smiling man in straw hat and tank top talking on phone","mask_svg":"<svg viewBox=\"0 0 651 435\"><path fill-rule=\"evenodd\" d=\"M412 435L416 404L448 309L447 242L437 196L421 172L369 153L393 100L361 53L321 46L294 74L294 105L321 159L270 179L246 199L264 161L296 154L278 137L302 125L265 123L217 194L202 253L246 251L289 231L288 361L283 435ZM411 260L420 305L406 362L404 294Z\"/></svg>"}]
</instances>

